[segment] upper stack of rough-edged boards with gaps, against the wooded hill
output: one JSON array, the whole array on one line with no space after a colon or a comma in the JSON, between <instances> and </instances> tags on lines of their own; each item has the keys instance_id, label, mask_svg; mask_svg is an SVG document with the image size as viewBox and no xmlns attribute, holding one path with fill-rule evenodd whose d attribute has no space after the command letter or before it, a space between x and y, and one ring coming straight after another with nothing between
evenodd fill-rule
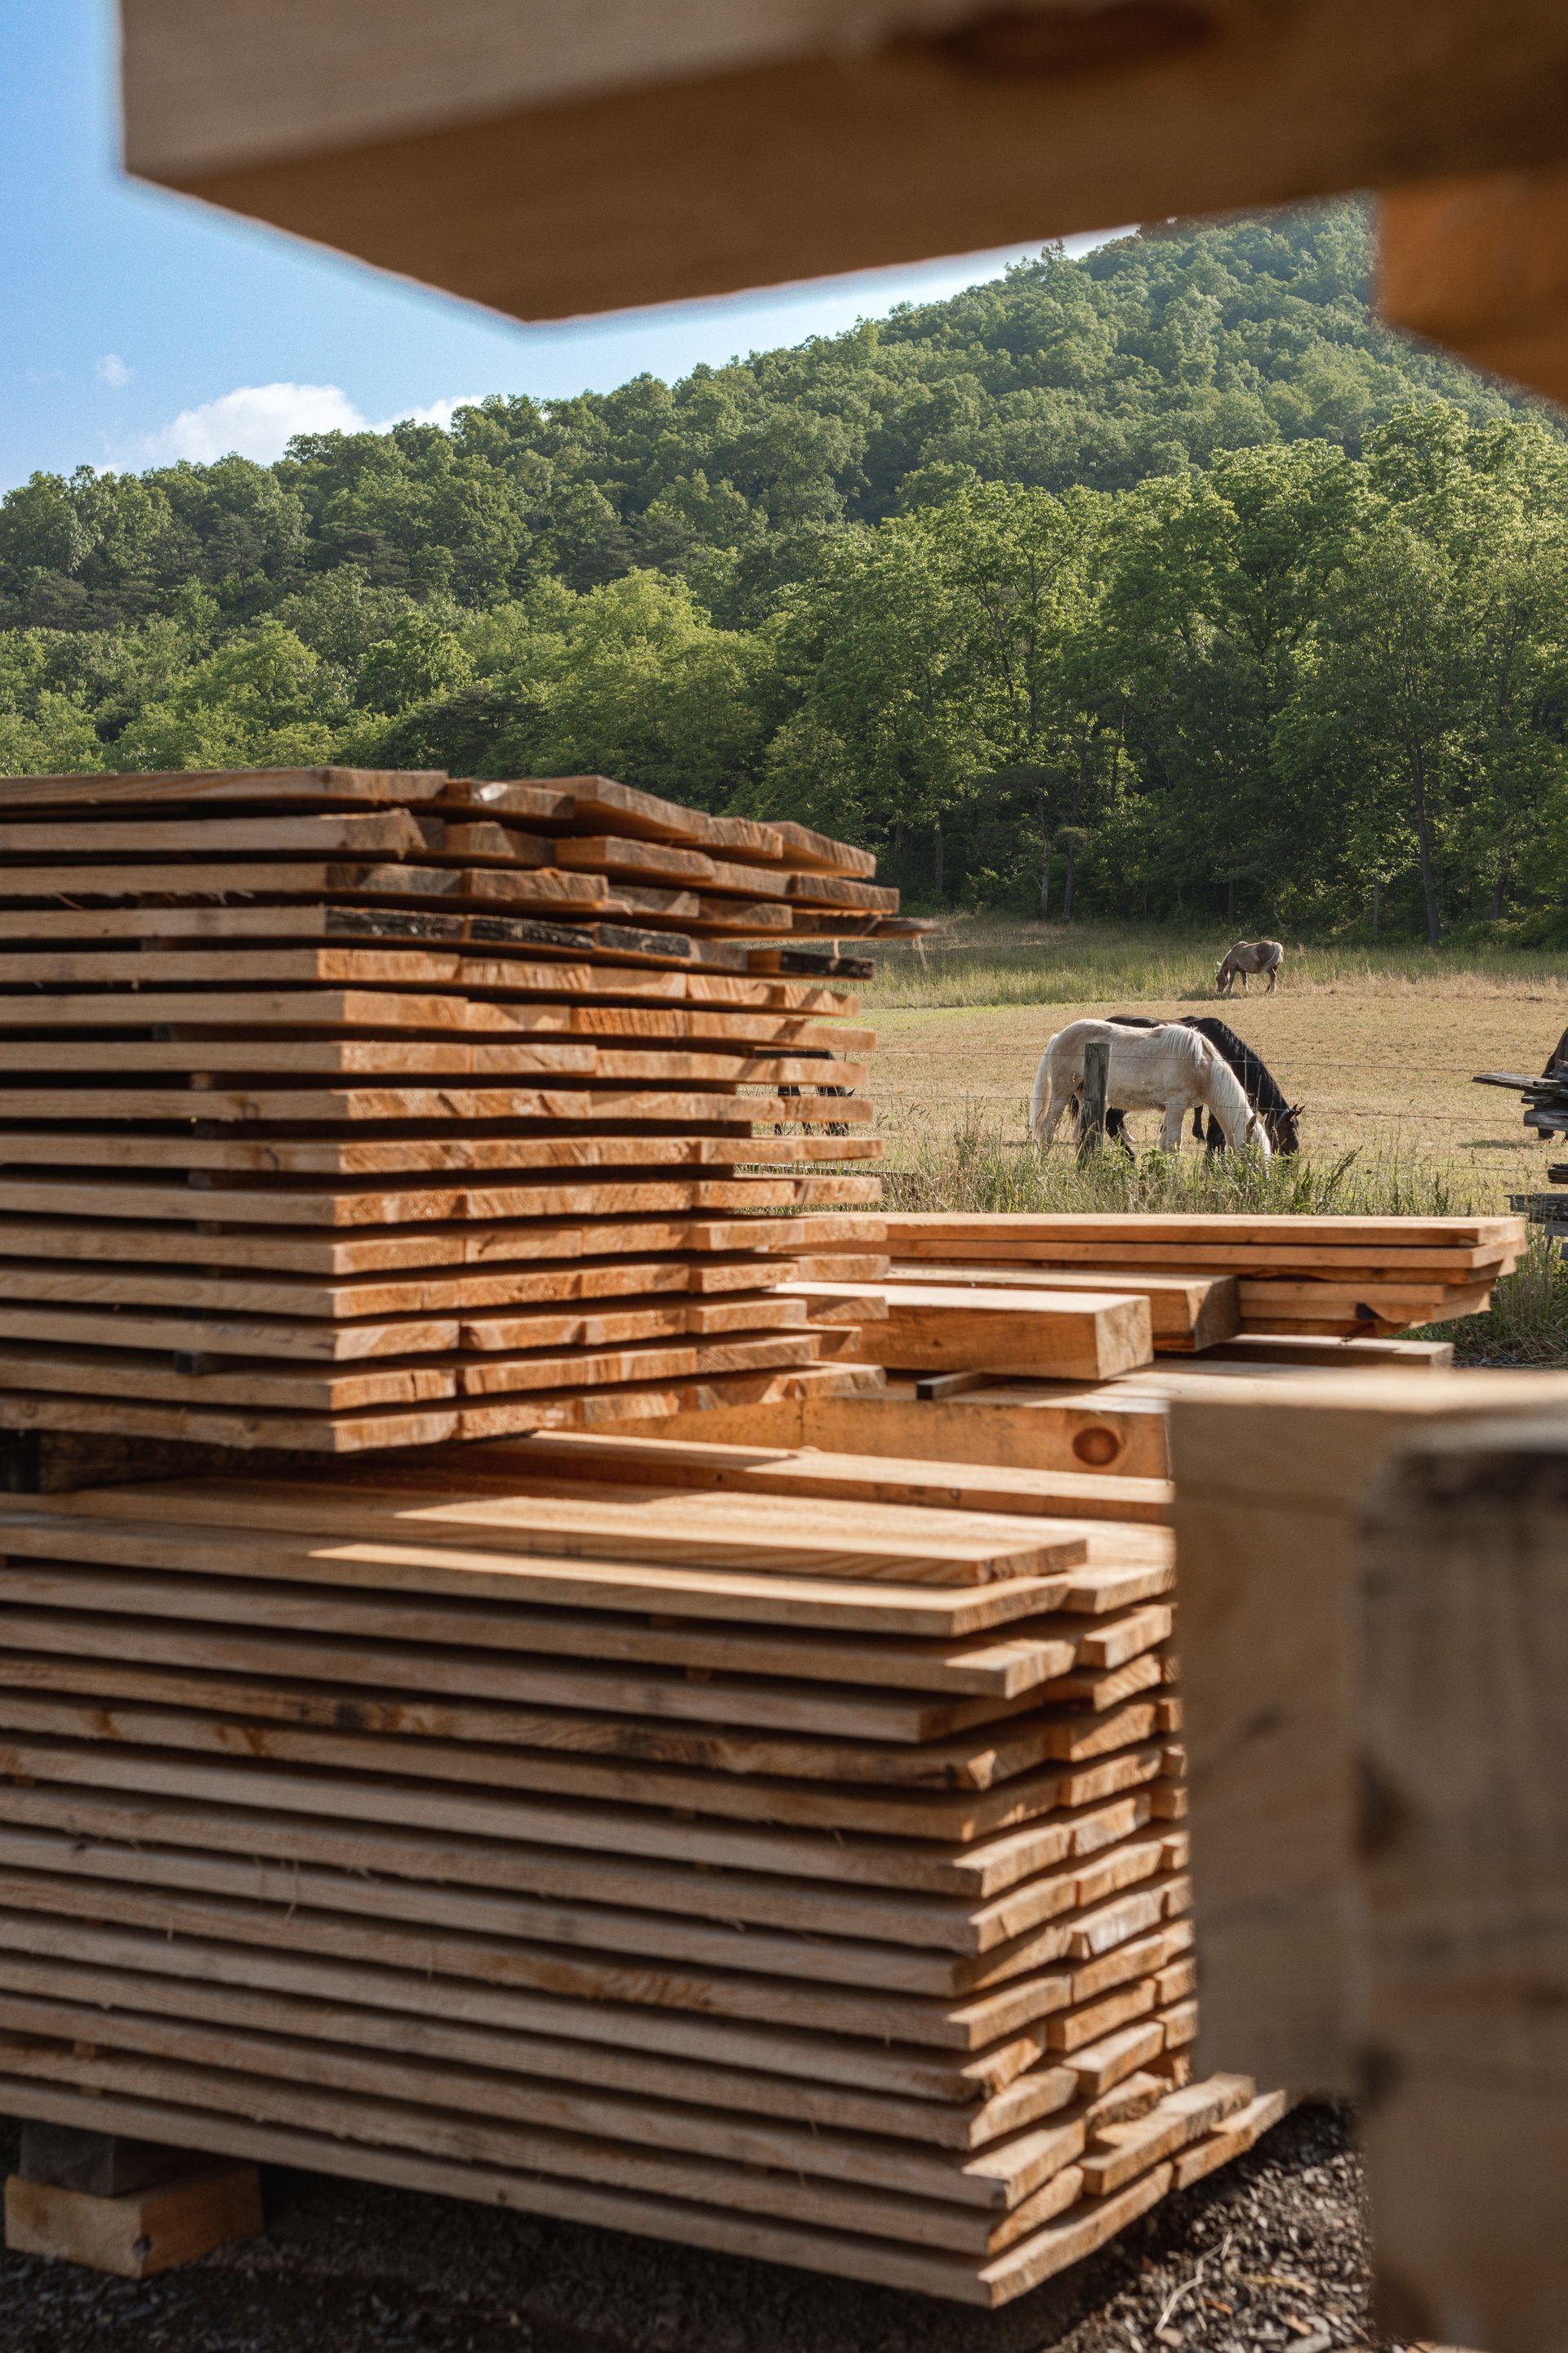
<instances>
[{"instance_id":1,"label":"upper stack of rough-edged boards with gaps, against the wooded hill","mask_svg":"<svg viewBox=\"0 0 1568 2353\"><path fill-rule=\"evenodd\" d=\"M875 1040L790 944L891 925L872 871L602 776L0 781L0 1426L350 1452L820 1379L780 1282L879 1198Z\"/></svg>"}]
</instances>

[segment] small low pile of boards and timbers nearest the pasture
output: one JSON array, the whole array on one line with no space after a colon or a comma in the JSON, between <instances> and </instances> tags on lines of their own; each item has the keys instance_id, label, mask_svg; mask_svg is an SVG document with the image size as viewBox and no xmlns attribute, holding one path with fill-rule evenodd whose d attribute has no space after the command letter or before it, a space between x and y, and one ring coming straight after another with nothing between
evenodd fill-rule
<instances>
[{"instance_id":1,"label":"small low pile of boards and timbers nearest the pasture","mask_svg":"<svg viewBox=\"0 0 1568 2353\"><path fill-rule=\"evenodd\" d=\"M813 1280L790 1285L813 1318L860 1320L851 1353L1060 1379L1237 1339L1385 1339L1476 1315L1523 1247L1516 1217L889 1212L884 1226L879 1273L835 1285L827 1228Z\"/></svg>"}]
</instances>

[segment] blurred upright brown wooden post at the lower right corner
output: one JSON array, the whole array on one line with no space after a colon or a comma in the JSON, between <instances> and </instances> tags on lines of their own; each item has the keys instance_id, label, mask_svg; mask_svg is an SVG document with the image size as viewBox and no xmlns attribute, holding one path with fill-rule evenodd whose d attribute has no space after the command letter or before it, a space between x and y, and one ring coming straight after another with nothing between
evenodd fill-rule
<instances>
[{"instance_id":1,"label":"blurred upright brown wooden post at the lower right corner","mask_svg":"<svg viewBox=\"0 0 1568 2353\"><path fill-rule=\"evenodd\" d=\"M1356 1529L1352 1633L1363 1793L1356 2024L1380 2322L1399 2341L1561 2353L1561 1409L1406 1442Z\"/></svg>"}]
</instances>

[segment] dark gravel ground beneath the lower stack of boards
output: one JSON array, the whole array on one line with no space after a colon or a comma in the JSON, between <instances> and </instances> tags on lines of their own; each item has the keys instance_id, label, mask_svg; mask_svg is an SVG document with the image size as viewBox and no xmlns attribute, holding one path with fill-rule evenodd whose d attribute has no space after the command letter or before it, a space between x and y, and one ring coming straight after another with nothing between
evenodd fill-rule
<instances>
[{"instance_id":1,"label":"dark gravel ground beneath the lower stack of boards","mask_svg":"<svg viewBox=\"0 0 1568 2353\"><path fill-rule=\"evenodd\" d=\"M9 2167L14 2134L0 2129ZM268 2235L143 2287L0 2257L0 2353L1331 2353L1371 2346L1333 2108L1004 2313L308 2174Z\"/></svg>"}]
</instances>

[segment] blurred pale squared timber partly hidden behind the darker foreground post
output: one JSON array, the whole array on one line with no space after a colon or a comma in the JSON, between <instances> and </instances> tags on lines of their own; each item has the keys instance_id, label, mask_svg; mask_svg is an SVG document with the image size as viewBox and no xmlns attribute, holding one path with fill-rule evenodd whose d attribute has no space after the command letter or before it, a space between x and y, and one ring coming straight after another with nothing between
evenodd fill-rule
<instances>
[{"instance_id":1,"label":"blurred pale squared timber partly hidden behind the darker foreground post","mask_svg":"<svg viewBox=\"0 0 1568 2353\"><path fill-rule=\"evenodd\" d=\"M1568 1374L1526 1372L1237 1379L1173 1398L1204 2066L1361 2089L1354 1515L1413 1438L1566 1405Z\"/></svg>"}]
</instances>

